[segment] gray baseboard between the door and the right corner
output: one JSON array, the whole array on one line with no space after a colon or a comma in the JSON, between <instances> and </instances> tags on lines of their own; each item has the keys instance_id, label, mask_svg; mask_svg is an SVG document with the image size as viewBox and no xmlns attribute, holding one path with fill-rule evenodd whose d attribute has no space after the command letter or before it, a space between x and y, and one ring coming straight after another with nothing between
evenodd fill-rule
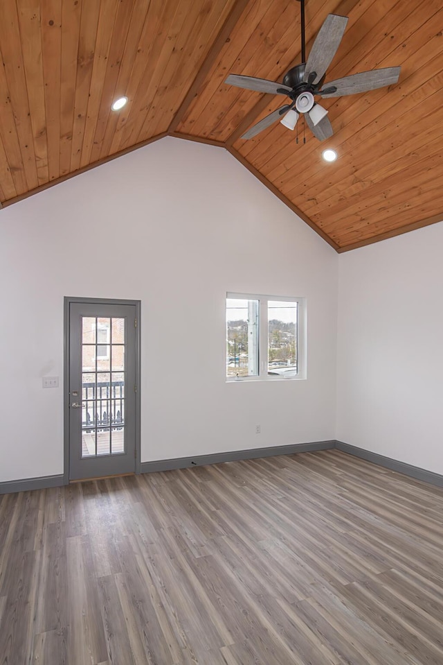
<instances>
[{"instance_id":1,"label":"gray baseboard between the door and the right corner","mask_svg":"<svg viewBox=\"0 0 443 665\"><path fill-rule=\"evenodd\" d=\"M268 448L251 448L246 450L232 450L226 453L212 453L208 455L197 455L194 457L177 457L172 460L156 460L154 462L142 462L142 474L156 471L171 471L172 469L188 469L189 467L201 467L208 464L220 464L222 462L238 462L239 460L255 460L262 457L273 457L275 455L292 455L293 453L307 453L316 450L329 450L335 447L335 441L315 441L312 443L295 443L289 446L269 446Z\"/></svg>"}]
</instances>

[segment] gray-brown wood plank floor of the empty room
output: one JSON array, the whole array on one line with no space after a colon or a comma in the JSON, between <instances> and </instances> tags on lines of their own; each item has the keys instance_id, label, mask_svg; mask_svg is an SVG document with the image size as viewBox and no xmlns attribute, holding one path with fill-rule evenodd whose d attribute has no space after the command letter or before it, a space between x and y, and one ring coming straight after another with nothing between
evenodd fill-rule
<instances>
[{"instance_id":1,"label":"gray-brown wood plank floor of the empty room","mask_svg":"<svg viewBox=\"0 0 443 665\"><path fill-rule=\"evenodd\" d=\"M442 665L443 490L320 451L0 501L2 665Z\"/></svg>"}]
</instances>

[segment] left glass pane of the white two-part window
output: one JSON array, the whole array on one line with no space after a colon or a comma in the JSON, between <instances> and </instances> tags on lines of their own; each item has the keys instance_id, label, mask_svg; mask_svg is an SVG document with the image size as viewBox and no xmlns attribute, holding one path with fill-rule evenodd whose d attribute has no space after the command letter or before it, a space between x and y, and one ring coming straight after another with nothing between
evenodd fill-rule
<instances>
[{"instance_id":1,"label":"left glass pane of the white two-part window","mask_svg":"<svg viewBox=\"0 0 443 665\"><path fill-rule=\"evenodd\" d=\"M226 376L258 376L258 300L226 298Z\"/></svg>"}]
</instances>

